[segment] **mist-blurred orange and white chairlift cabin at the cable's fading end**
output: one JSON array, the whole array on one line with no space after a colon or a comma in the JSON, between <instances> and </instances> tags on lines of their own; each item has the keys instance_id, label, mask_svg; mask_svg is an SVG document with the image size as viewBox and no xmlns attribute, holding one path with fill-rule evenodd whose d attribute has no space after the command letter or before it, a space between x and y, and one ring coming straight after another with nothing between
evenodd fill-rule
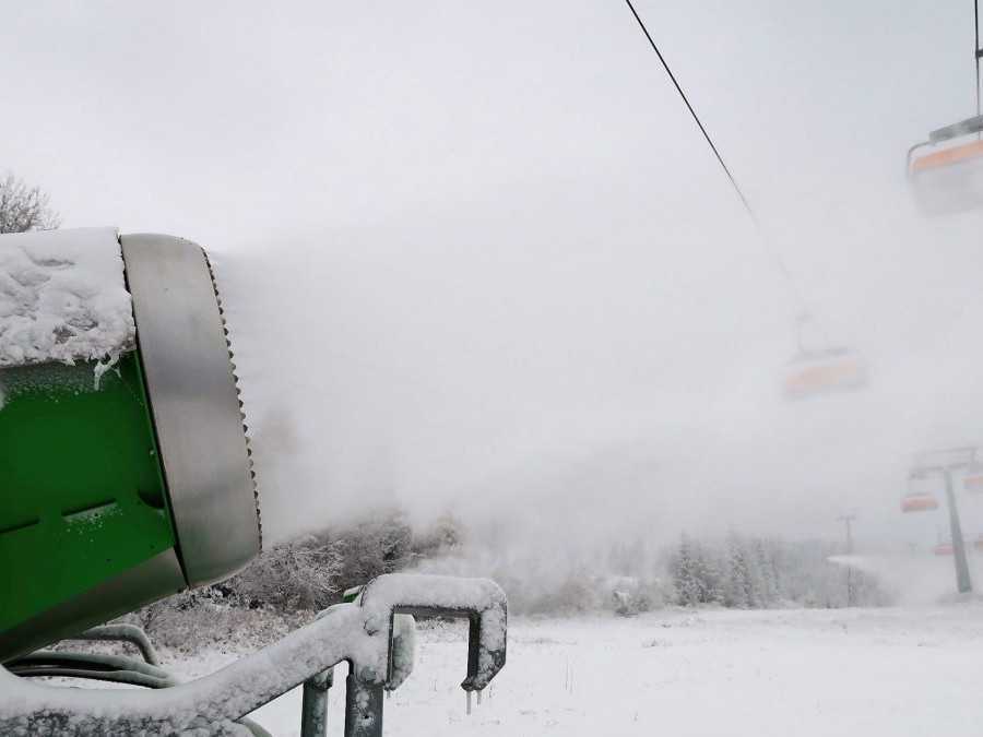
<instances>
[{"instance_id":1,"label":"mist-blurred orange and white chairlift cabin at the cable's fading end","mask_svg":"<svg viewBox=\"0 0 983 737\"><path fill-rule=\"evenodd\" d=\"M802 400L853 391L867 383L867 367L856 350L845 346L808 348L803 333L812 318L797 320L798 350L785 367L784 395Z\"/></svg>"}]
</instances>

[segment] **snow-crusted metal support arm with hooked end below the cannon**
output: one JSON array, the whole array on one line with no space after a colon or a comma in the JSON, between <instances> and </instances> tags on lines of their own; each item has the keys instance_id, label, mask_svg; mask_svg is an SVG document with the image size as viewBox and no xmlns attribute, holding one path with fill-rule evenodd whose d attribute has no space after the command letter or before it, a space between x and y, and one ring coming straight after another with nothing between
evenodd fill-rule
<instances>
[{"instance_id":1,"label":"snow-crusted metal support arm with hooked end below the cannon","mask_svg":"<svg viewBox=\"0 0 983 737\"><path fill-rule=\"evenodd\" d=\"M393 663L406 655L400 652L406 645L398 637L396 617L407 614L469 619L467 670L461 683L469 701L470 693L481 693L505 665L508 607L497 584L487 579L389 574L370 582L357 601L335 605L270 647L189 683L153 691L80 692L21 680L0 668L0 691L5 697L0 734L130 737L201 729L256 735L260 733L244 718L304 683L304 737L323 737L327 716L321 715L333 680L329 674L347 662L345 737L380 737L382 692L399 685ZM127 665L135 663L126 659Z\"/></svg>"}]
</instances>

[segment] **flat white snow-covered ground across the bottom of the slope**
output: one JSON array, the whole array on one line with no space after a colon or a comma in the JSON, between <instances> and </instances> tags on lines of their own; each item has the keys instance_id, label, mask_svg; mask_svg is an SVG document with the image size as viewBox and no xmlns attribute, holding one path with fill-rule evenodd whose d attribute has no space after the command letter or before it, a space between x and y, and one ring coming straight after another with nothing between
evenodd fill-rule
<instances>
[{"instance_id":1,"label":"flat white snow-covered ground across the bottom of the slope","mask_svg":"<svg viewBox=\"0 0 983 737\"><path fill-rule=\"evenodd\" d=\"M228 653L180 666L214 669ZM513 620L508 664L465 715L462 630L421 632L416 669L386 703L386 734L932 735L983 733L983 604L665 611ZM329 734L341 734L344 667ZM299 734L295 690L257 713Z\"/></svg>"}]
</instances>

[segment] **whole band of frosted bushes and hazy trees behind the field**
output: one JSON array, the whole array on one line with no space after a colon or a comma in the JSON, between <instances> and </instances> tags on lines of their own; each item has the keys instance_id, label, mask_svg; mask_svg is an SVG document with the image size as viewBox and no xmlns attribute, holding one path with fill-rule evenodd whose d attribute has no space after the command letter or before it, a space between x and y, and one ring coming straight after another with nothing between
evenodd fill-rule
<instances>
[{"instance_id":1,"label":"whole band of frosted bushes and hazy trees behind the field","mask_svg":"<svg viewBox=\"0 0 983 737\"><path fill-rule=\"evenodd\" d=\"M846 570L829 561L834 544L731 533L682 535L674 544L638 538L568 549L524 540L472 539L445 514L414 530L400 509L377 509L343 526L264 550L220 584L178 594L131 616L161 644L240 637L269 642L342 593L377 575L418 571L495 579L520 615L609 611L631 616L665 607L833 608L848 605ZM889 595L853 572L853 604L879 606Z\"/></svg>"}]
</instances>

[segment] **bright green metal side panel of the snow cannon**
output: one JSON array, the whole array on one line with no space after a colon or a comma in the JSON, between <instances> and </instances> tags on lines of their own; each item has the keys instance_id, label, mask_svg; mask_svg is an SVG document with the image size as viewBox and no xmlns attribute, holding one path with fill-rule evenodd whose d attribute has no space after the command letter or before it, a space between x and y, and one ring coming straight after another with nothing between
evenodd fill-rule
<instances>
[{"instance_id":1,"label":"bright green metal side panel of the snow cannon","mask_svg":"<svg viewBox=\"0 0 983 737\"><path fill-rule=\"evenodd\" d=\"M0 633L175 547L139 357L94 369L0 369Z\"/></svg>"}]
</instances>

